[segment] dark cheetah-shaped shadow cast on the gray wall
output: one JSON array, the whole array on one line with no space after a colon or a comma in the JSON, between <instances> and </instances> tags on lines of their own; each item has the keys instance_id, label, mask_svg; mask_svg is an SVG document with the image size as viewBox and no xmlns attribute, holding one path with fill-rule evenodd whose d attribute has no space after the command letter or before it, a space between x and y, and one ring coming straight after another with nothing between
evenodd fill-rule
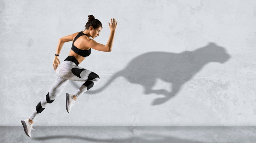
<instances>
[{"instance_id":1,"label":"dark cheetah-shaped shadow cast on the gray wall","mask_svg":"<svg viewBox=\"0 0 256 143\"><path fill-rule=\"evenodd\" d=\"M125 77L130 83L144 87L144 94L160 94L165 97L155 99L151 105L159 105L174 97L181 86L189 81L203 66L210 62L226 62L230 56L223 47L209 42L208 45L194 51L182 53L149 52L139 55L121 71L115 73L108 84L97 90L88 90L86 94L95 94L104 90L116 78ZM165 89L153 90L157 78L172 84L171 92ZM78 86L77 86L78 87ZM79 87L78 87L79 88Z\"/></svg>"}]
</instances>

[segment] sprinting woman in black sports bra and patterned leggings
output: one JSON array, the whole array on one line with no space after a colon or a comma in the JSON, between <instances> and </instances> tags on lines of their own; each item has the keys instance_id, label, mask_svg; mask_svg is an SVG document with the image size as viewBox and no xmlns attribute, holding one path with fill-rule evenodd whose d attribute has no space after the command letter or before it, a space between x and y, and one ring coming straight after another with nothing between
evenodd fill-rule
<instances>
[{"instance_id":1,"label":"sprinting woman in black sports bra and patterned leggings","mask_svg":"<svg viewBox=\"0 0 256 143\"><path fill-rule=\"evenodd\" d=\"M66 94L66 109L68 113L70 113L71 107L76 102L76 99L99 82L99 76L96 73L81 68L78 64L81 63L86 56L91 54L91 48L98 51L111 52L117 23L114 18L111 19L111 24L108 23L111 32L107 44L103 45L93 40L99 36L102 29L101 22L95 19L93 15L89 15L88 17L89 20L85 25L84 31L59 39L56 54L53 59L53 69L56 71L56 79L46 97L37 104L29 119L21 121L24 131L29 137L31 137L30 133L31 130L33 130L32 127L34 127L32 125L37 115L59 96L69 80L84 81L85 83L74 94ZM90 37L93 39L90 39ZM60 50L65 42L72 40L73 44L69 56L60 64L58 58ZM59 68L58 64L60 64Z\"/></svg>"}]
</instances>

